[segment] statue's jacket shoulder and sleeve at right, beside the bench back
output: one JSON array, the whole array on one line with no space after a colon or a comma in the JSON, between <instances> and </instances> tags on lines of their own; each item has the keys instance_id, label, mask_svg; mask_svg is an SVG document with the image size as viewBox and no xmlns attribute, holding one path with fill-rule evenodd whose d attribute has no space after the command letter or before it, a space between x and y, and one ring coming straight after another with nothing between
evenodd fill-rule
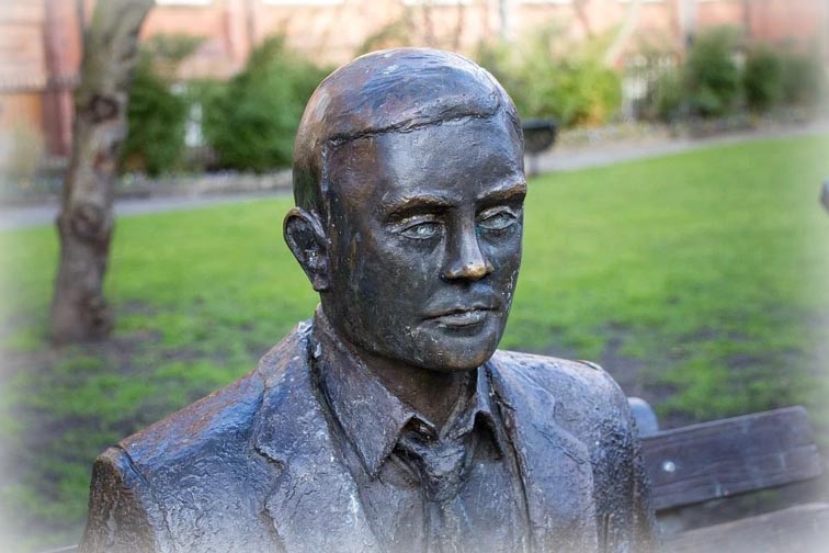
<instances>
[{"instance_id":1,"label":"statue's jacket shoulder and sleeve at right, beside the bench back","mask_svg":"<svg viewBox=\"0 0 829 553\"><path fill-rule=\"evenodd\" d=\"M533 402L544 422L580 441L592 465L593 500L606 551L650 551L654 518L627 398L598 364L499 352L508 400Z\"/></svg>"}]
</instances>

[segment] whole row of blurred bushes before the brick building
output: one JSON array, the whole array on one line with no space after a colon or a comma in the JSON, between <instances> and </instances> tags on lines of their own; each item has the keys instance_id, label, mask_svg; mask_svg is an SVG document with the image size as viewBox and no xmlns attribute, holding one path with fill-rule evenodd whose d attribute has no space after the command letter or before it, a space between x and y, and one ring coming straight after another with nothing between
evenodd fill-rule
<instances>
[{"instance_id":1,"label":"whole row of blurred bushes before the brick building","mask_svg":"<svg viewBox=\"0 0 829 553\"><path fill-rule=\"evenodd\" d=\"M411 44L412 29L411 21L395 21L366 38L360 53ZM817 106L826 97L816 50L749 43L735 29L716 27L699 34L685 55L643 43L628 56L633 63L613 67L604 60L613 36L575 42L560 26L546 25L511 43L480 43L473 57L504 86L523 117L552 117L560 128L762 115ZM122 170L157 177L289 167L305 103L332 68L273 36L227 81L177 79L200 43L159 35L143 46Z\"/></svg>"}]
</instances>

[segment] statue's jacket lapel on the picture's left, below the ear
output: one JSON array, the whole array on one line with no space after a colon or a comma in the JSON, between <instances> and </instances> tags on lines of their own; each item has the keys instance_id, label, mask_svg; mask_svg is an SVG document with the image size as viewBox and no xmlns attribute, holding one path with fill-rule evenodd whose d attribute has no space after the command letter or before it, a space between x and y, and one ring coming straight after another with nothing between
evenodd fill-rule
<instances>
[{"instance_id":1,"label":"statue's jacket lapel on the picture's left, below the ear","mask_svg":"<svg viewBox=\"0 0 829 553\"><path fill-rule=\"evenodd\" d=\"M300 325L260 363L265 391L253 445L282 470L265 511L287 551L379 551L314 390L308 332Z\"/></svg>"}]
</instances>

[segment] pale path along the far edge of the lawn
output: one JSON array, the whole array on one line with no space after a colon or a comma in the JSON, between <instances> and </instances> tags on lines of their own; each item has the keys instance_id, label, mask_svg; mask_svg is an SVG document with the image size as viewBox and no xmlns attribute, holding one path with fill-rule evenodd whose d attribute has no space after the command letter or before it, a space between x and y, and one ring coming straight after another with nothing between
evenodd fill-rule
<instances>
[{"instance_id":1,"label":"pale path along the far edge of the lawn","mask_svg":"<svg viewBox=\"0 0 829 553\"><path fill-rule=\"evenodd\" d=\"M794 128L731 133L707 138L662 138L648 142L621 142L609 145L554 147L550 151L542 154L532 161L527 161L527 167L533 167L537 172L576 171L591 167L609 166L621 161L690 151L709 146L821 134L829 134L829 121L808 123ZM145 213L196 210L224 203L251 202L264 198L285 198L288 193L288 191L279 190L266 193L248 192L232 195L123 199L115 202L115 214L117 217L128 217ZM0 206L0 230L49 225L54 223L57 212L57 203L24 207Z\"/></svg>"}]
</instances>

